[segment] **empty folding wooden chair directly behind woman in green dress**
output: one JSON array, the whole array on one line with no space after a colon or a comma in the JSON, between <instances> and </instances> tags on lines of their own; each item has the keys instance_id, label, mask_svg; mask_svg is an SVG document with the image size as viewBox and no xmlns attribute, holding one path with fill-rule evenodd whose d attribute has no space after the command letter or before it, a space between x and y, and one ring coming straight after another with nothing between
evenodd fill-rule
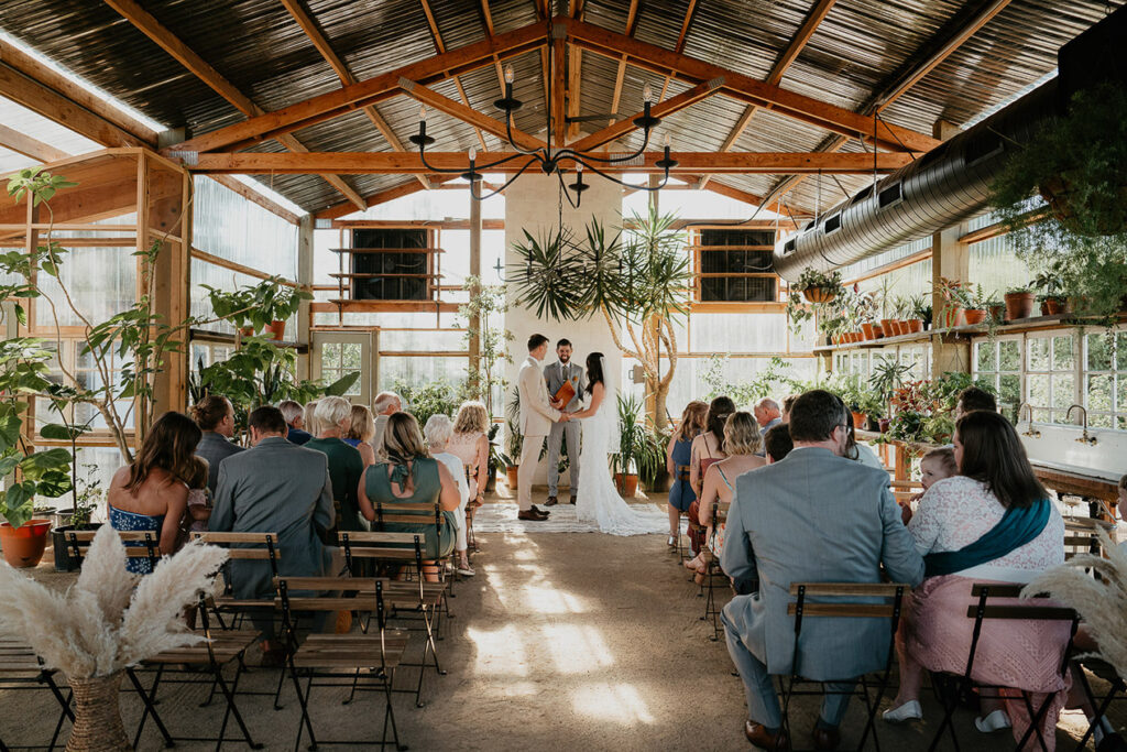
<instances>
[{"instance_id":1,"label":"empty folding wooden chair directly behind woman in green dress","mask_svg":"<svg viewBox=\"0 0 1127 752\"><path fill-rule=\"evenodd\" d=\"M389 566L414 563L417 570L423 567L423 534L417 532L340 532L338 540L345 552L345 567L353 569L356 560L370 559L375 563L378 574L384 574ZM426 640L423 646L423 658L419 663L401 662L400 665L417 666L419 670L418 685L415 689L416 707L425 707L423 702L423 675L427 669L427 657L434 660L434 670L438 675L446 672L438 665L438 647L435 645L434 621L441 608L445 591L442 583L388 581L383 589L384 603L390 611L400 610L417 612L423 621ZM391 618L394 618L392 616ZM369 620L362 620L364 631L367 631ZM394 690L400 691L400 690Z\"/></svg>"}]
</instances>

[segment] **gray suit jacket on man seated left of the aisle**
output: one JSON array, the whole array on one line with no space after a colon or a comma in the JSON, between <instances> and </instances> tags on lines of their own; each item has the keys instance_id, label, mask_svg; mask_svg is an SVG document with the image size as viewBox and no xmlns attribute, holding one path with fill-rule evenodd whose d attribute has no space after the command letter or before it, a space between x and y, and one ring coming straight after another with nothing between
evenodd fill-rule
<instances>
[{"instance_id":1,"label":"gray suit jacket on man seated left of the aisle","mask_svg":"<svg viewBox=\"0 0 1127 752\"><path fill-rule=\"evenodd\" d=\"M328 530L334 520L329 458L321 452L272 436L219 467L208 529L276 532L278 574L331 574L331 552L317 531ZM231 585L236 598L268 596L274 592L269 561L231 561Z\"/></svg>"}]
</instances>

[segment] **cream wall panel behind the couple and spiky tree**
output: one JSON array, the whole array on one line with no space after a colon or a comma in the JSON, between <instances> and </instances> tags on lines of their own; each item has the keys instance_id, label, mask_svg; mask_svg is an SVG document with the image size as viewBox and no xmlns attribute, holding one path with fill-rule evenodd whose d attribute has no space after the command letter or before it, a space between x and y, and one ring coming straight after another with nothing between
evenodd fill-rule
<instances>
[{"instance_id":1,"label":"cream wall panel behind the couple and spiky tree","mask_svg":"<svg viewBox=\"0 0 1127 752\"><path fill-rule=\"evenodd\" d=\"M587 183L591 188L584 192L583 203L578 210L573 210L567 200L564 201L564 224L571 228L580 238L585 237L584 228L591 220L597 219L613 235L621 223L622 188L610 180L592 175ZM533 334L542 334L551 340L548 357L543 364L556 362L556 340L566 337L575 346L573 361L583 364L587 354L601 352L606 356L606 378L615 388L622 373L622 356L606 321L602 318L589 318L579 321L554 321L538 319L535 310L529 310L516 304L517 289L513 283L515 275L523 267L520 254L513 250L513 244L524 239L524 230L533 237L540 237L559 223L559 180L550 175L521 176L505 192L505 266L508 283L509 310L506 326L513 333L513 363L506 364L505 378L512 384L516 383L516 373L527 357L527 340ZM506 395L506 402L508 396ZM613 406L612 406L613 408ZM514 458L515 459L515 458ZM536 470L535 484L547 483L547 460ZM560 485L565 485L565 478Z\"/></svg>"}]
</instances>

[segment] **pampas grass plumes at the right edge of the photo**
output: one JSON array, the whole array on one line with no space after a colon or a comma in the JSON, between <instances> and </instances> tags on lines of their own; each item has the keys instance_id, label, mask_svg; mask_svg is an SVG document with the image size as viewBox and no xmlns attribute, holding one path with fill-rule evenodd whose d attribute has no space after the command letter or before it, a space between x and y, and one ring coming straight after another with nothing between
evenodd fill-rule
<instances>
[{"instance_id":1,"label":"pampas grass plumes at the right edge of the photo","mask_svg":"<svg viewBox=\"0 0 1127 752\"><path fill-rule=\"evenodd\" d=\"M1061 566L1046 569L1021 591L1023 596L1048 593L1075 609L1099 646L1094 655L1127 678L1127 552L1107 531L1097 529L1107 558L1081 554ZM1097 580L1084 569L1100 575Z\"/></svg>"}]
</instances>

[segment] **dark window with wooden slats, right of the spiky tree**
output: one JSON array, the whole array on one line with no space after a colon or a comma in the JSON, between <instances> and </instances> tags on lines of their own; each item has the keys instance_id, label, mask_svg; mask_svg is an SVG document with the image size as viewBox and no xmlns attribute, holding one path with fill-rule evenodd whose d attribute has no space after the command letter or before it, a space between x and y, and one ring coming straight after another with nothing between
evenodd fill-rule
<instances>
[{"instance_id":1,"label":"dark window with wooden slats, right of the spiky tree","mask_svg":"<svg viewBox=\"0 0 1127 752\"><path fill-rule=\"evenodd\" d=\"M767 302L779 299L772 271L774 231L703 229L693 238L696 300L701 302Z\"/></svg>"}]
</instances>

